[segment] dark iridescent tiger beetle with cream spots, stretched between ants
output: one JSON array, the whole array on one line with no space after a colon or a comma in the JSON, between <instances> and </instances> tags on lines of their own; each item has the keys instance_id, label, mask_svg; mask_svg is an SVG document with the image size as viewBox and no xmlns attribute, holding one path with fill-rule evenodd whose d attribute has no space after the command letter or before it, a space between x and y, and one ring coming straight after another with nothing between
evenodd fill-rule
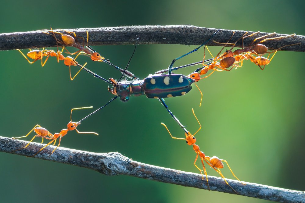
<instances>
[{"instance_id":1,"label":"dark iridescent tiger beetle with cream spots, stretched between ants","mask_svg":"<svg viewBox=\"0 0 305 203\"><path fill-rule=\"evenodd\" d=\"M220 30L220 29L219 29ZM100 109L107 106L110 102L120 97L120 100L122 102L127 102L129 100L130 96L140 96L140 95L146 95L148 98L156 98L158 99L162 105L167 109L167 111L170 113L170 115L174 118L174 120L181 126L181 128L187 133L187 130L184 128L184 126L179 122L179 120L170 112L168 109L168 106L165 104L163 98L168 97L176 97L185 95L192 89L192 84L195 82L194 79L181 75L181 74L174 74L171 71L174 69L178 69L185 66L180 66L177 68L172 68L174 65L174 62L178 59L181 59L182 57L197 51L200 47L205 45L219 30L217 30L207 41L205 41L202 45L200 45L198 48L195 48L193 51L188 52L176 59L174 59L170 66L168 67L168 74L155 74L155 75L149 75L148 77L144 78L143 80L135 79L133 81L121 81L123 76L126 75L127 68L129 66L129 63L135 53L135 49L137 47L137 43L135 44L135 49L131 55L131 58L129 59L126 68L124 69L122 76L118 81L114 80L113 78L110 78L109 80L106 80L103 77L100 77L96 73L93 73L87 68L83 68L88 73L91 73L95 77L98 77L99 79L103 80L104 82L111 84L113 88L108 87L108 91L112 94L116 95L114 98L112 98L109 102L107 102L105 105L100 107L99 109L96 109L94 112L90 113L88 116L81 119L79 122L83 121L84 119L88 118L92 114L96 113ZM209 59L212 60L212 59ZM209 61L206 60L206 61ZM192 66L199 64L201 62L196 62L193 64L189 64L186 66ZM111 66L114 66L113 64L108 63ZM117 68L117 66L114 66ZM132 73L128 72L127 77L131 76ZM137 78L132 74L133 78Z\"/></svg>"}]
</instances>

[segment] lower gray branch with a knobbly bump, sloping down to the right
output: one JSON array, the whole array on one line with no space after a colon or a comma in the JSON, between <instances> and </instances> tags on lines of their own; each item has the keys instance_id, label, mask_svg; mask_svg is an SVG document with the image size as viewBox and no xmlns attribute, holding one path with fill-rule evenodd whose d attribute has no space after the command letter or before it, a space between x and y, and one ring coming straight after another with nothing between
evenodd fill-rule
<instances>
[{"instance_id":1,"label":"lower gray branch with a knobbly bump, sloping down to the right","mask_svg":"<svg viewBox=\"0 0 305 203\"><path fill-rule=\"evenodd\" d=\"M27 148L14 151L24 147L28 142L16 140L8 137L0 137L0 151L23 156L33 156L44 144L31 143ZM208 189L206 180L196 173L152 166L140 163L123 156L118 152L93 153L59 147L51 156L54 146L48 146L35 156L48 161L60 162L74 166L93 169L105 175L128 175L149 180L156 180L163 183L172 183L185 187L195 187ZM210 190L236 194L220 177L208 176ZM239 181L227 179L228 183L239 195L260 198L278 202L305 202L303 191L287 190L278 187L260 185L256 183L246 183L243 185Z\"/></svg>"}]
</instances>

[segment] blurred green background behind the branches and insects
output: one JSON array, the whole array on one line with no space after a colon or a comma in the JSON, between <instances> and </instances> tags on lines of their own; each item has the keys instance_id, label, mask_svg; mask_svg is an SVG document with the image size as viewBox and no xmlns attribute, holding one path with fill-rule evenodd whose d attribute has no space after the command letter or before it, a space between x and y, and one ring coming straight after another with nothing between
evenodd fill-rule
<instances>
[{"instance_id":1,"label":"blurred green background behind the branches and insects","mask_svg":"<svg viewBox=\"0 0 305 203\"><path fill-rule=\"evenodd\" d=\"M286 1L5 1L0 33L53 28L116 27L124 25L192 24L232 30L305 35L304 2ZM196 46L139 45L129 70L140 78L167 68L172 59ZM134 46L94 47L106 59L125 67ZM75 50L75 49L73 49ZM215 54L219 47L211 48ZM26 50L23 50L27 52ZM178 61L184 65L203 58L203 50ZM63 63L50 58L44 67L29 64L17 51L0 53L0 135L18 137L35 124L50 132L66 128L70 109L98 108L112 94L107 85L81 72L70 81ZM215 73L186 96L166 99L167 105L195 132L206 155L226 159L240 180L305 190L304 185L304 53L278 52L261 71L250 61L231 72ZM83 64L87 57L79 57ZM105 78L120 73L103 63L87 67ZM194 68L192 68L194 69ZM75 70L75 69L74 69ZM191 69L176 71L188 74ZM75 121L91 112L74 112ZM198 173L196 154L159 102L145 96L119 100L78 127L99 136L69 132L61 146L93 152L118 151L133 160ZM135 126L135 127L132 127ZM34 136L34 134L32 135ZM29 136L29 137L32 137ZM40 139L37 139L40 141ZM200 165L200 162L198 163ZM208 168L208 174L218 176ZM232 178L230 171L222 170ZM129 176L105 176L95 171L35 158L0 153L1 202L267 202L255 198L159 183Z\"/></svg>"}]
</instances>

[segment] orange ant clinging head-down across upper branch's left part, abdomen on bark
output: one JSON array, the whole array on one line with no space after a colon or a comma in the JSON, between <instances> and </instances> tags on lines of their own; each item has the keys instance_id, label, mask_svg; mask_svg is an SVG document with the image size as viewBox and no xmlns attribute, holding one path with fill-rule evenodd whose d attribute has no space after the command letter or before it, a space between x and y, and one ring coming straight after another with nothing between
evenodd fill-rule
<instances>
[{"instance_id":1,"label":"orange ant clinging head-down across upper branch's left part, abdomen on bark","mask_svg":"<svg viewBox=\"0 0 305 203\"><path fill-rule=\"evenodd\" d=\"M96 52L94 49L92 49L91 47L88 46L89 33L88 33L87 30L86 30L86 32L87 32L87 46L86 47L87 48L85 48L85 39L83 37L76 36L75 32L62 30L62 31L67 33L67 34L63 34L61 32L55 32L52 29L52 27L51 27L51 31L50 30L46 30L46 31L52 32L52 34L47 33L47 32L45 32L45 34L52 35L55 38L57 44L62 44L62 45L65 45L65 46L72 46L72 47L75 47L75 48L79 49L78 51L76 51L74 53L70 53L68 50L66 50L68 52L68 54L74 55L74 54L77 54L79 52L78 55L80 55L80 54L90 55L92 61L103 61L105 59L98 52ZM59 40L55 36L55 33L61 35L62 41ZM74 37L71 36L71 35L68 35L68 34L74 35ZM83 40L83 45L80 45L78 43L77 37L81 38ZM76 39L76 42L75 42L75 39Z\"/></svg>"}]
</instances>

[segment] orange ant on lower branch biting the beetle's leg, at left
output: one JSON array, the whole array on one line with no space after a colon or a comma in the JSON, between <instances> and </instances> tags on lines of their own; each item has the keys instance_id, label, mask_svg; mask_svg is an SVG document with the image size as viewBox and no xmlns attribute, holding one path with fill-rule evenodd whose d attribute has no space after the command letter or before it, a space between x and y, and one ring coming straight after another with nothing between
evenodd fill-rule
<instances>
[{"instance_id":1,"label":"orange ant on lower branch biting the beetle's leg, at left","mask_svg":"<svg viewBox=\"0 0 305 203\"><path fill-rule=\"evenodd\" d=\"M71 109L71 116L70 116L71 121L67 124L67 127L68 127L68 128L67 128L67 129L61 130L60 133L55 133L55 134L53 135L53 134L50 133L47 129L45 129L45 128L43 128L43 127L41 127L40 125L37 124L37 125L27 134L27 135L22 136L22 137L13 137L13 139L19 139L19 138L27 137L33 130L35 131L36 135L30 140L30 142L29 142L27 145L25 145L25 147L20 148L20 149L27 148L27 146L29 146L29 144L34 140L35 137L42 137L42 142L41 142L41 143L43 143L43 138L48 139L48 140L52 140L52 141L50 141L48 144L46 144L43 148L41 148L35 155L33 155L33 157L34 157L34 156L36 156L40 151L42 151L44 148L46 148L48 145L52 144L52 142L54 142L53 145L55 145L56 140L59 138L59 143L58 143L58 145L56 146L56 148L52 151L52 153L50 154L50 156L51 156L51 155L53 154L53 152L59 147L61 138L62 138L63 136L65 136L65 135L68 133L69 130L76 130L76 132L77 132L77 133L80 133L80 134L91 133L91 134L99 135L99 134L97 134L97 133L95 133L95 132L80 132L80 131L78 131L78 130L76 129L76 127L77 127L78 125L80 125L81 123L80 123L80 122L72 122L72 111L73 111L73 110L77 110L77 109L88 109L88 108L93 108L93 106ZM38 126L38 127L37 127L37 126ZM18 150L20 150L20 149L17 149L17 150L15 150L15 151L18 151Z\"/></svg>"}]
</instances>

